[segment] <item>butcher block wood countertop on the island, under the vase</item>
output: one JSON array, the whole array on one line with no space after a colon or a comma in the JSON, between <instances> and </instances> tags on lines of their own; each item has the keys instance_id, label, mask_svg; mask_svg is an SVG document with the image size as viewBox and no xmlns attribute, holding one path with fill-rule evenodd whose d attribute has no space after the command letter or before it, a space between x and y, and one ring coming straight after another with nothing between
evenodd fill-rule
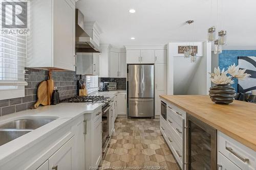
<instances>
[{"instance_id":1,"label":"butcher block wood countertop on the island, under the vase","mask_svg":"<svg viewBox=\"0 0 256 170\"><path fill-rule=\"evenodd\" d=\"M256 151L256 104L213 103L208 95L160 95L160 98Z\"/></svg>"}]
</instances>

